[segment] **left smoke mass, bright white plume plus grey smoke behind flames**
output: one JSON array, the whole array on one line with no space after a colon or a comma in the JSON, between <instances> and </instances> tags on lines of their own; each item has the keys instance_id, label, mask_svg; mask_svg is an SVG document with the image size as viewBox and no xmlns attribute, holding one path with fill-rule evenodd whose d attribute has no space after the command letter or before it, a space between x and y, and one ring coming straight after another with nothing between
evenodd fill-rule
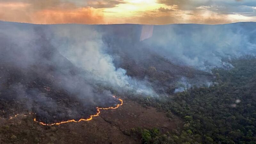
<instances>
[{"instance_id":1,"label":"left smoke mass, bright white plume plus grey smoke behind flames","mask_svg":"<svg viewBox=\"0 0 256 144\"><path fill-rule=\"evenodd\" d=\"M88 118L119 103L113 91L156 96L116 68L94 26L1 22L0 37L0 101L18 102L39 121Z\"/></svg>"}]
</instances>

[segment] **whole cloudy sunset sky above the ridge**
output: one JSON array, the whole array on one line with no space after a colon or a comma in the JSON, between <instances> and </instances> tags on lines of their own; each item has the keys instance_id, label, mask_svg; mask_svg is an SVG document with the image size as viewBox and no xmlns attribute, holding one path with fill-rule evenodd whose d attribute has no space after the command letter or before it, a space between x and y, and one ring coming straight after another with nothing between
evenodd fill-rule
<instances>
[{"instance_id":1,"label":"whole cloudy sunset sky above the ridge","mask_svg":"<svg viewBox=\"0 0 256 144\"><path fill-rule=\"evenodd\" d=\"M34 24L256 21L256 0L0 0L0 20Z\"/></svg>"}]
</instances>

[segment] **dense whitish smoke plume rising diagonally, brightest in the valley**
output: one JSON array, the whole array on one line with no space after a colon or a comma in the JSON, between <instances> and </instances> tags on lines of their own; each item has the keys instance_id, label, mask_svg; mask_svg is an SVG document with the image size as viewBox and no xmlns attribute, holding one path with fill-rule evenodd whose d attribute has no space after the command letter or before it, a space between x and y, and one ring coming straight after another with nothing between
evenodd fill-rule
<instances>
[{"instance_id":1,"label":"dense whitish smoke plume rising diagonally, brightest in the valley","mask_svg":"<svg viewBox=\"0 0 256 144\"><path fill-rule=\"evenodd\" d=\"M136 81L126 75L126 70L116 68L108 47L102 41L102 32L93 26L53 26L52 44L77 67L84 69L88 81L94 84L112 86L117 91L136 91L140 94L156 95L143 81Z\"/></svg>"}]
</instances>

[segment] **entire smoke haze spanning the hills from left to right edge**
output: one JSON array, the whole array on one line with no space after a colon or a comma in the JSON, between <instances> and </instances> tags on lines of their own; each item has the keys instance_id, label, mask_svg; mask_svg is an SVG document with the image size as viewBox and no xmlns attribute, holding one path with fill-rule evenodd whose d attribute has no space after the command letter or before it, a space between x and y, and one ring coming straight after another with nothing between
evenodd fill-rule
<instances>
[{"instance_id":1,"label":"entire smoke haze spanning the hills from left to right edge","mask_svg":"<svg viewBox=\"0 0 256 144\"><path fill-rule=\"evenodd\" d=\"M253 22L0 25L0 100L45 123L88 118L118 103L112 93L157 97L209 87L212 68L233 68L229 60L256 48Z\"/></svg>"}]
</instances>

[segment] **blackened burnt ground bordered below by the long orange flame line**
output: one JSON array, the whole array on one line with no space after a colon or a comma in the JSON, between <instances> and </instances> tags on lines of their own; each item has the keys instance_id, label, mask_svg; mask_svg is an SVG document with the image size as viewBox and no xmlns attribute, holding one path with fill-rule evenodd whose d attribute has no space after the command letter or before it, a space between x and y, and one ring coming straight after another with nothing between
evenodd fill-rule
<instances>
[{"instance_id":1,"label":"blackened burnt ground bordered below by the long orange flame line","mask_svg":"<svg viewBox=\"0 0 256 144\"><path fill-rule=\"evenodd\" d=\"M105 91L100 92L100 90L97 92L98 95L91 99L92 101L86 101L86 99L75 97L59 87L54 87L51 84L52 76L50 80L45 79L46 76L34 79L33 75L36 74L31 72L24 74L18 69L14 70L9 66L7 68L4 65L1 65L1 68L9 76L6 79L7 81L2 83L5 89L1 89L0 102L1 116L3 117L9 116L12 119L19 115L13 116L13 113L28 113L31 111L31 114L36 117L36 122L53 125L89 121L93 116L99 115L100 109L115 109L123 104L121 99L110 96L111 93L101 98ZM22 77L23 80L17 82L19 77ZM51 85L45 89L44 85L47 82L47 85ZM23 116L28 116L28 114Z\"/></svg>"}]
</instances>

